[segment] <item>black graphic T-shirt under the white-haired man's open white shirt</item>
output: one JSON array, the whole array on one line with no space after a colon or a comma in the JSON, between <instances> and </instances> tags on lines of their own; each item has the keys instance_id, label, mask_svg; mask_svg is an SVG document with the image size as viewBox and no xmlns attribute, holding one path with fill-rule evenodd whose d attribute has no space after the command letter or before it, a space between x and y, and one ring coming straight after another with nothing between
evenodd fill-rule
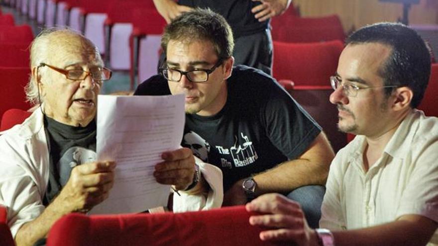
<instances>
[{"instance_id":1,"label":"black graphic T-shirt under the white-haired man's open white shirt","mask_svg":"<svg viewBox=\"0 0 438 246\"><path fill-rule=\"evenodd\" d=\"M96 161L96 121L75 127L44 116L49 147L49 183L44 197L48 205L70 178L73 167Z\"/></svg>"}]
</instances>

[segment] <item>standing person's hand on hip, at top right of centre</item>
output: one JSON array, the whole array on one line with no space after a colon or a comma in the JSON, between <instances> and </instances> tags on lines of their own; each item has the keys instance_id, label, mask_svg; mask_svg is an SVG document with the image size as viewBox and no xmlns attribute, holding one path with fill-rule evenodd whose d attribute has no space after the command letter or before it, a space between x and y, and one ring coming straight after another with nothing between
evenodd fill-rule
<instances>
[{"instance_id":1,"label":"standing person's hand on hip, at top right of centre","mask_svg":"<svg viewBox=\"0 0 438 246\"><path fill-rule=\"evenodd\" d=\"M251 9L255 13L254 17L263 22L271 17L280 15L289 7L291 0L252 0L260 1L259 4Z\"/></svg>"}]
</instances>

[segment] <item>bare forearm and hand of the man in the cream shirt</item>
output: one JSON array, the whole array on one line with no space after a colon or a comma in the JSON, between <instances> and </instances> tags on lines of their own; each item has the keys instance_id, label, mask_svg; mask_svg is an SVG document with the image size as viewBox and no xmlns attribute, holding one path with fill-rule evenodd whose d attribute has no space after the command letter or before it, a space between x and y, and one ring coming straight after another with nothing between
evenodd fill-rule
<instances>
[{"instance_id":1,"label":"bare forearm and hand of the man in the cream shirt","mask_svg":"<svg viewBox=\"0 0 438 246\"><path fill-rule=\"evenodd\" d=\"M269 213L251 216L249 223L270 228L263 241L289 241L299 246L319 246L316 232L307 226L300 205L280 194L266 194L246 205L248 211ZM403 215L394 222L370 228L333 232L336 246L426 245L438 223L421 215Z\"/></svg>"}]
</instances>

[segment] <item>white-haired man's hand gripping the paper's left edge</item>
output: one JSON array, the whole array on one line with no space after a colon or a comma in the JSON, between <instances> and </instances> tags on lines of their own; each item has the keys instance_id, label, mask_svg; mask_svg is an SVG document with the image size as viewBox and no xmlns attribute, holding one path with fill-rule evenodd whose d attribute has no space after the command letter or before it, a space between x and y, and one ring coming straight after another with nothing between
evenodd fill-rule
<instances>
[{"instance_id":1,"label":"white-haired man's hand gripping the paper's left edge","mask_svg":"<svg viewBox=\"0 0 438 246\"><path fill-rule=\"evenodd\" d=\"M87 212L108 198L114 182L114 162L94 162L75 166L55 199L66 212Z\"/></svg>"}]
</instances>

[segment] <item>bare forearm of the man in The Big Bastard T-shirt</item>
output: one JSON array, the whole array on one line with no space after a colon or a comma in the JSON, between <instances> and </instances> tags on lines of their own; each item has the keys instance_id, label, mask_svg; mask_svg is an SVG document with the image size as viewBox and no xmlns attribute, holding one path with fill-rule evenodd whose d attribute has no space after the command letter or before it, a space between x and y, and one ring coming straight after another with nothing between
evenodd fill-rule
<instances>
[{"instance_id":1,"label":"bare forearm of the man in The Big Bastard T-shirt","mask_svg":"<svg viewBox=\"0 0 438 246\"><path fill-rule=\"evenodd\" d=\"M326 135L320 133L309 149L298 159L279 164L266 172L254 175L253 178L257 183L256 195L269 192L288 192L304 185L324 185L333 158L334 153ZM242 182L243 180L237 181L225 192L224 205L246 203Z\"/></svg>"}]
</instances>

